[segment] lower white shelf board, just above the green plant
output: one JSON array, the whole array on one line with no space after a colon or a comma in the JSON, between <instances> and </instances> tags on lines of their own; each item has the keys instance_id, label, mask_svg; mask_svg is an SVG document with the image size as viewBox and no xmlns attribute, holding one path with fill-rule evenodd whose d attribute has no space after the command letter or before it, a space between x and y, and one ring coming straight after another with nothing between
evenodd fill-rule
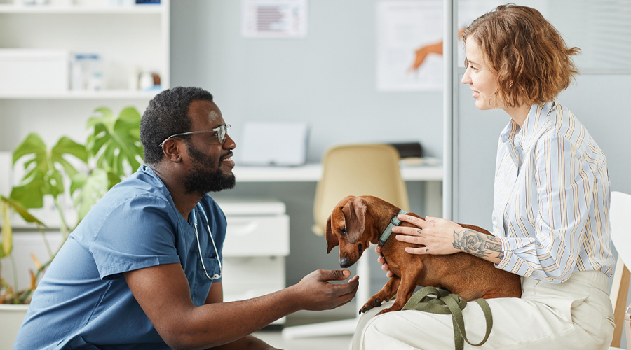
<instances>
[{"instance_id":1,"label":"lower white shelf board, just above the green plant","mask_svg":"<svg viewBox=\"0 0 631 350\"><path fill-rule=\"evenodd\" d=\"M0 92L0 99L151 99L158 91Z\"/></svg>"}]
</instances>

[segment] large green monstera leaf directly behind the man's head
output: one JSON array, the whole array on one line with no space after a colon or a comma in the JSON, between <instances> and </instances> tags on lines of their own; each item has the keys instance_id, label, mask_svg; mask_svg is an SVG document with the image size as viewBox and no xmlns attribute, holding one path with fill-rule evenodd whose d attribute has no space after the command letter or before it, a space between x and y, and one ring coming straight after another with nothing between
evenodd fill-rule
<instances>
[{"instance_id":1,"label":"large green monstera leaf directly behind the man's head","mask_svg":"<svg viewBox=\"0 0 631 350\"><path fill-rule=\"evenodd\" d=\"M140 167L140 113L133 107L123 109L118 118L107 108L96 109L95 113L101 115L88 120L88 128L93 128L93 132L87 148L97 168L107 172L109 189L128 175L125 169L130 167L130 172L135 172Z\"/></svg>"}]
</instances>

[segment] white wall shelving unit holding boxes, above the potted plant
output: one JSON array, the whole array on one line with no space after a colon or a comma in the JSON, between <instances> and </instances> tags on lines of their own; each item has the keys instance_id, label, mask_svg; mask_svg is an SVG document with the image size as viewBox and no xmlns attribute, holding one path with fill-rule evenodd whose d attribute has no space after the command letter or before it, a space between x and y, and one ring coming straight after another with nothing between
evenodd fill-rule
<instances>
[{"instance_id":1,"label":"white wall shelving unit holding boxes, above the potted plant","mask_svg":"<svg viewBox=\"0 0 631 350\"><path fill-rule=\"evenodd\" d=\"M54 3L54 1L51 1ZM0 48L94 52L102 56L102 90L0 92L0 151L11 151L29 132L47 144L67 135L83 140L86 120L97 107L140 113L156 90L130 90L135 71L156 72L170 86L170 1L125 7L0 3ZM104 3L107 3L105 1Z\"/></svg>"}]
</instances>

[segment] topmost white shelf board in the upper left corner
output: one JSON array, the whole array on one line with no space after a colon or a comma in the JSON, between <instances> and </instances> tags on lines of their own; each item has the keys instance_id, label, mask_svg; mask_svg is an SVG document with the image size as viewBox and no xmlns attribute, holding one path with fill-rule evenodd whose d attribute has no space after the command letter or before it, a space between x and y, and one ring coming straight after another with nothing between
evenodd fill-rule
<instances>
[{"instance_id":1,"label":"topmost white shelf board in the upper left corner","mask_svg":"<svg viewBox=\"0 0 631 350\"><path fill-rule=\"evenodd\" d=\"M97 7L97 6L46 6L46 5L0 5L0 13L12 14L156 14L163 13L161 4L135 5L129 7Z\"/></svg>"}]
</instances>

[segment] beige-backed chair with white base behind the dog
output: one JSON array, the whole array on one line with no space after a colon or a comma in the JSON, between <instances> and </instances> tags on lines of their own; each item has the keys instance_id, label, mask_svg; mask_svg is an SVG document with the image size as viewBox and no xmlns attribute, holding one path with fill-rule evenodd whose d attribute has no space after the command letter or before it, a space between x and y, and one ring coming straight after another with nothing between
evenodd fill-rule
<instances>
[{"instance_id":1,"label":"beige-backed chair with white base behind the dog","mask_svg":"<svg viewBox=\"0 0 631 350\"><path fill-rule=\"evenodd\" d=\"M342 145L328 149L322 160L323 176L315 190L313 232L324 235L327 218L335 204L347 195L373 195L409 211L407 188L401 177L399 159L397 150L386 144ZM369 261L376 258L371 251L372 247L362 254L358 262L360 285L355 295L355 310L359 310L371 297ZM283 329L282 335L285 339L352 335L357 321L358 317L288 327Z\"/></svg>"}]
</instances>

